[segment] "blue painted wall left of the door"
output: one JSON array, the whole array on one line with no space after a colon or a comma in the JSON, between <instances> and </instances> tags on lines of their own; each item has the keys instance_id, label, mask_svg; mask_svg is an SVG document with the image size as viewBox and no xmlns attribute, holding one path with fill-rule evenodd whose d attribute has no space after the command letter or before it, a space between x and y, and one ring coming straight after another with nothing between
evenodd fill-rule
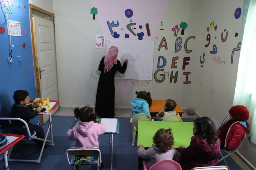
<instances>
[{"instance_id":1,"label":"blue painted wall left of the door","mask_svg":"<svg viewBox=\"0 0 256 170\"><path fill-rule=\"evenodd\" d=\"M8 5L7 5L8 6ZM26 6L26 7L25 7ZM8 6L9 7L9 6ZM4 10L4 8L3 8ZM30 11L28 0L14 0L12 14L8 19L21 22L21 35L11 36L12 63L7 62L10 57L10 41L7 30L7 22L2 10L0 10L0 27L5 28L5 33L0 33L0 116L7 117L14 103L13 94L16 90L27 90L30 98L36 98L36 85L34 79L34 67L32 56L32 42L30 29ZM23 29L27 29L25 35ZM22 44L26 44L23 48ZM21 56L18 62L17 56ZM38 120L38 118L37 118Z\"/></svg>"}]
</instances>

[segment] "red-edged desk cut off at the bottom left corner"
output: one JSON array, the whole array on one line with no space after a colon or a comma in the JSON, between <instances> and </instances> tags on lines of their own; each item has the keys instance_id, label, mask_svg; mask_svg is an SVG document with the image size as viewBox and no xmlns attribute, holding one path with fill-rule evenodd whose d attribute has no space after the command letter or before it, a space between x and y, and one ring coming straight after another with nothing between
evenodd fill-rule
<instances>
[{"instance_id":1,"label":"red-edged desk cut off at the bottom left corner","mask_svg":"<svg viewBox=\"0 0 256 170\"><path fill-rule=\"evenodd\" d=\"M7 138L7 143L4 146L0 147L0 154L4 153L5 170L9 170L8 159L7 159L8 149L14 146L18 141L22 140L24 138L24 135L1 134L1 133L0 135L5 135Z\"/></svg>"}]
</instances>

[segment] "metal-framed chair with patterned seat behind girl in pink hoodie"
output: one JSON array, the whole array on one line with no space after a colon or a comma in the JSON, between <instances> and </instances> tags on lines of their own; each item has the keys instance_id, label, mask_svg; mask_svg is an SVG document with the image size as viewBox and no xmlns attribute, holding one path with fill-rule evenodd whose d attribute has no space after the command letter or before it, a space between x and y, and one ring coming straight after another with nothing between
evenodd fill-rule
<instances>
[{"instance_id":1,"label":"metal-framed chair with patterned seat behind girl in pink hoodie","mask_svg":"<svg viewBox=\"0 0 256 170\"><path fill-rule=\"evenodd\" d=\"M101 169L101 151L97 147L69 148L66 150L66 157L74 170L79 165L97 165L97 169Z\"/></svg>"}]
</instances>

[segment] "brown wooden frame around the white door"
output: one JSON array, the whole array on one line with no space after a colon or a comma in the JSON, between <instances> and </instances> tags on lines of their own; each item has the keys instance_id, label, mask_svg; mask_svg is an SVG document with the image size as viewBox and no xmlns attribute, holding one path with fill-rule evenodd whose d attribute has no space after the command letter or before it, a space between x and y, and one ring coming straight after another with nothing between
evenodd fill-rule
<instances>
[{"instance_id":1,"label":"brown wooden frame around the white door","mask_svg":"<svg viewBox=\"0 0 256 170\"><path fill-rule=\"evenodd\" d=\"M37 14L34 14L32 11L36 11ZM33 55L33 64L34 64L34 76L36 82L36 93L37 97L41 98L41 91L40 91L40 83L39 83L39 74L38 74L38 62L37 62L37 46L36 46L36 35L35 35L35 26L33 23L32 17L36 16L39 18L47 19L53 22L53 13L50 13L42 8L39 8L35 5L30 4L30 23L31 23L31 37L32 37L32 55ZM54 23L53 23L54 27Z\"/></svg>"}]
</instances>

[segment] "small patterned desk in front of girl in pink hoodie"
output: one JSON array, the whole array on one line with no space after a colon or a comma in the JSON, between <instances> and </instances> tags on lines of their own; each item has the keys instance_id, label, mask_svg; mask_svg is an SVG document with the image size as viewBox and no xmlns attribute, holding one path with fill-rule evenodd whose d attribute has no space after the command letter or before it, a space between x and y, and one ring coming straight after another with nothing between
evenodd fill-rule
<instances>
[{"instance_id":1,"label":"small patterned desk in front of girl in pink hoodie","mask_svg":"<svg viewBox=\"0 0 256 170\"><path fill-rule=\"evenodd\" d=\"M113 121L111 120L114 120L116 118L113 118L113 119L110 119L110 118L97 118L97 123L101 123L101 119L105 119L107 121L104 121L104 123L106 124L107 126L107 130L109 127L113 126ZM70 129L73 129L76 125L78 125L79 123L79 119L75 119L75 121L73 122L73 124L71 125L71 128ZM110 152L111 152L111 170L113 169L113 134L119 134L119 119L117 119L116 121L116 131L115 132L108 132L106 131L104 134L109 134L109 142L110 142Z\"/></svg>"}]
</instances>

